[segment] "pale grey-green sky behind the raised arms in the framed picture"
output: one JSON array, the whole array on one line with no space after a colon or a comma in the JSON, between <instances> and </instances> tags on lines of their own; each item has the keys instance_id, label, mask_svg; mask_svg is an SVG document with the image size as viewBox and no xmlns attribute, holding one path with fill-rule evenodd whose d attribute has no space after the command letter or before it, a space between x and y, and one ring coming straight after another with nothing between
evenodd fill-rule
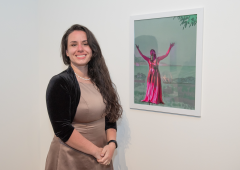
<instances>
[{"instance_id":1,"label":"pale grey-green sky behind the raised arms in the framed picture","mask_svg":"<svg viewBox=\"0 0 240 170\"><path fill-rule=\"evenodd\" d=\"M135 44L146 56L154 49L157 56L164 55L170 43L175 43L170 55L162 62L171 65L196 65L197 26L187 26L183 30L181 22L173 17L135 21ZM140 57L135 48L135 56Z\"/></svg>"}]
</instances>

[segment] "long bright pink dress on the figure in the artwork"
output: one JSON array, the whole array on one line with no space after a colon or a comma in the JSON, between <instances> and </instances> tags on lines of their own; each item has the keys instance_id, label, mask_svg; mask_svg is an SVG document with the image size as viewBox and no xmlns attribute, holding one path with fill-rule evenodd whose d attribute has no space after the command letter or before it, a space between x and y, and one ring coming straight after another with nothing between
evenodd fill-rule
<instances>
[{"instance_id":1,"label":"long bright pink dress on the figure in the artwork","mask_svg":"<svg viewBox=\"0 0 240 170\"><path fill-rule=\"evenodd\" d=\"M161 76L158 70L160 58L154 59L152 62L149 58L144 58L149 65L149 71L147 76L147 89L146 96L142 102L149 102L154 104L162 103L162 85Z\"/></svg>"}]
</instances>

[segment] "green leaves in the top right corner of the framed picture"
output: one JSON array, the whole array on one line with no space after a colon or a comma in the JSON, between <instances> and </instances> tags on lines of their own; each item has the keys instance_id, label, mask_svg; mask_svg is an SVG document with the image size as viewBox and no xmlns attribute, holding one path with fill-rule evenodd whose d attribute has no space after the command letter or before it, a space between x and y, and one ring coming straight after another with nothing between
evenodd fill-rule
<instances>
[{"instance_id":1,"label":"green leaves in the top right corner of the framed picture","mask_svg":"<svg viewBox=\"0 0 240 170\"><path fill-rule=\"evenodd\" d=\"M197 15L183 15L183 16L177 16L173 17L173 19L177 18L181 24L183 25L183 29L186 28L188 25L189 27L195 26L197 24Z\"/></svg>"}]
</instances>

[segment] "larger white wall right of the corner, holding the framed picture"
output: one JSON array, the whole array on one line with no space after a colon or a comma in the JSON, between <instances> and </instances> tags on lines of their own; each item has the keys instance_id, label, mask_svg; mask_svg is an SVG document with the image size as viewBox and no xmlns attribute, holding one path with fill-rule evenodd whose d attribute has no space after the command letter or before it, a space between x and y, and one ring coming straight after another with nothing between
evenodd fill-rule
<instances>
[{"instance_id":1,"label":"larger white wall right of the corner, holding the framed picture","mask_svg":"<svg viewBox=\"0 0 240 170\"><path fill-rule=\"evenodd\" d=\"M50 77L64 69L61 37L78 23L96 35L123 105L115 169L240 169L239 5L237 0L41 0L41 166L53 134L44 91ZM129 109L130 15L198 7L204 7L202 117Z\"/></svg>"}]
</instances>

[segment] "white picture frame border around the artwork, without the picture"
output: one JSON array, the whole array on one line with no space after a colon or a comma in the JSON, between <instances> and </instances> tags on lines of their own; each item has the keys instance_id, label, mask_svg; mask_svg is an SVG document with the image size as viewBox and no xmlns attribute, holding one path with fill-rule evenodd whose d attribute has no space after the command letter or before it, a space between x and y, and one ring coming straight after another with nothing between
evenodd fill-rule
<instances>
[{"instance_id":1,"label":"white picture frame border around the artwork, without the picture","mask_svg":"<svg viewBox=\"0 0 240 170\"><path fill-rule=\"evenodd\" d=\"M163 107L162 105L155 105L155 104L151 105L151 103L149 103L149 105L136 103L134 101L134 97L135 97L134 96L134 88L135 88L134 76L136 76L136 74L134 74L134 67L135 67L134 57L136 53L136 44L135 44L136 28L134 23L136 23L136 21L164 19L164 18L188 16L188 15L197 15L197 24L195 25L196 26L196 58L195 58L196 72L195 72L194 109L184 109L184 108L165 107L165 106ZM151 26L154 27L154 25L151 25ZM184 27L184 25L182 25L182 27ZM185 29L187 29L187 27ZM149 33L149 35L150 34L151 33ZM130 108L200 117L201 116L201 93L202 93L202 55L203 55L203 8L131 16L130 17L130 57L129 57L130 58Z\"/></svg>"}]
</instances>

